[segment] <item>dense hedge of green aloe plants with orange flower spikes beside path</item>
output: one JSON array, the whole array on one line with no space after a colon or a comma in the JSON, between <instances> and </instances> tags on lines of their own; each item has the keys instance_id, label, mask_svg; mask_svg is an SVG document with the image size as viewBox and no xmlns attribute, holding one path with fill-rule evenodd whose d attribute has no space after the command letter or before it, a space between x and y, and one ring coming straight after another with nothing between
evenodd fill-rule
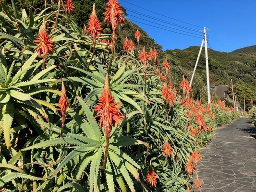
<instances>
[{"instance_id":1,"label":"dense hedge of green aloe plants with orange flower spikes beside path","mask_svg":"<svg viewBox=\"0 0 256 192\"><path fill-rule=\"evenodd\" d=\"M139 31L116 53L116 0L112 34L95 7L80 29L72 0L57 3L36 13L0 1L1 190L190 191L200 147L238 114L193 100L184 78L179 95L168 61L160 72L157 51L138 50Z\"/></svg>"}]
</instances>

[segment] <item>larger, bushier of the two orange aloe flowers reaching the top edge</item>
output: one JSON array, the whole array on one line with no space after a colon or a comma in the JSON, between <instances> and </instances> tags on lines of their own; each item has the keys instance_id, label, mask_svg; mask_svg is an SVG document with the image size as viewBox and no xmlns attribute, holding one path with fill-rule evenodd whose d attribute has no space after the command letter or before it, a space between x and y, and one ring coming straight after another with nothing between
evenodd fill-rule
<instances>
[{"instance_id":1,"label":"larger, bushier of the two orange aloe flowers reaching the top edge","mask_svg":"<svg viewBox=\"0 0 256 192\"><path fill-rule=\"evenodd\" d=\"M107 22L109 26L111 25L112 30L115 31L118 23L124 24L124 19L122 18L123 11L117 0L109 0L107 6L108 8L106 8L106 12L104 13L104 21Z\"/></svg>"}]
</instances>

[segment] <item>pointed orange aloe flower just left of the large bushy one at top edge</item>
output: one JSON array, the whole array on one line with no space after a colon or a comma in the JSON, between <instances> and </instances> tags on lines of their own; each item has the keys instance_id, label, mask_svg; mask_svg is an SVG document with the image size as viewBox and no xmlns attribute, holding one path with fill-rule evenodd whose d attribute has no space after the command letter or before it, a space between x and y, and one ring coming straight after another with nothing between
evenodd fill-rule
<instances>
[{"instance_id":1,"label":"pointed orange aloe flower just left of the large bushy one at top edge","mask_svg":"<svg viewBox=\"0 0 256 192\"><path fill-rule=\"evenodd\" d=\"M102 34L101 23L98 20L94 3L93 3L92 13L89 17L89 22L87 24L89 25L87 29L87 32L90 33L89 36L93 36L93 38L95 38L95 37L98 37L100 34Z\"/></svg>"}]
</instances>

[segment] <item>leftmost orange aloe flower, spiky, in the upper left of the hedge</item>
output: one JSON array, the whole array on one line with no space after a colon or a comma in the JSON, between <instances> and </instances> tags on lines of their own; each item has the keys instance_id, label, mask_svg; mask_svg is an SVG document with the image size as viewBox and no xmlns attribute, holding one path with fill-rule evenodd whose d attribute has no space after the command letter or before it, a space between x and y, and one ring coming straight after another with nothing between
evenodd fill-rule
<instances>
[{"instance_id":1,"label":"leftmost orange aloe flower, spiky, in the upper left of the hedge","mask_svg":"<svg viewBox=\"0 0 256 192\"><path fill-rule=\"evenodd\" d=\"M46 56L48 52L50 55L52 55L54 41L52 40L52 37L50 37L49 34L46 32L45 27L43 27L42 30L39 32L39 36L40 37L36 37L36 40L34 40L34 43L39 44L33 50L38 48L37 52L39 56L41 56L42 52L44 56Z\"/></svg>"}]
</instances>

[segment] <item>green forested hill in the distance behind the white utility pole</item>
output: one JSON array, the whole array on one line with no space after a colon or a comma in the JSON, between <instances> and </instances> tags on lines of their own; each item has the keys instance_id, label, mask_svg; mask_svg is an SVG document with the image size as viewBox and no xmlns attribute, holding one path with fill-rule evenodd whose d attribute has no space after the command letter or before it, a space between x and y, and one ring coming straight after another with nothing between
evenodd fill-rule
<instances>
[{"instance_id":1,"label":"green forested hill in the distance behind the white utility pole","mask_svg":"<svg viewBox=\"0 0 256 192\"><path fill-rule=\"evenodd\" d=\"M165 55L169 56L173 63L178 63L184 71L187 71L190 78L195 66L199 52L197 46L183 50L166 50ZM256 101L256 46L237 49L230 53L219 52L208 48L208 60L210 71L210 84L229 86L231 94L231 79L233 81L234 93L238 102L243 103L245 96L246 107L250 107L251 99ZM176 64L177 65L177 64ZM205 50L203 48L196 75L206 82L205 72ZM196 83L195 83L196 84ZM195 86L193 83L193 85Z\"/></svg>"}]
</instances>

